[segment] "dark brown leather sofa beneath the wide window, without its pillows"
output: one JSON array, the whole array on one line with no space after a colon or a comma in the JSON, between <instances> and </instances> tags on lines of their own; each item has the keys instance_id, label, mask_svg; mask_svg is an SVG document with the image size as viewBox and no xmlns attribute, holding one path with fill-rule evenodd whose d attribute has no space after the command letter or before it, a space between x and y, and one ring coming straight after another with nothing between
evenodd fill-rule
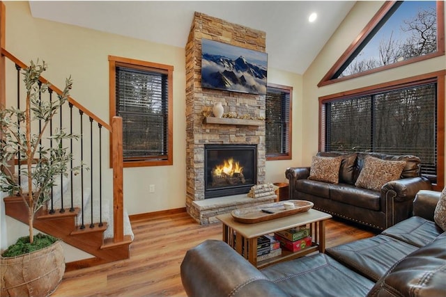
<instances>
[{"instance_id":1,"label":"dark brown leather sofa beneath the wide window, without its pillows","mask_svg":"<svg viewBox=\"0 0 446 297\"><path fill-rule=\"evenodd\" d=\"M365 157L406 161L400 179L388 182L381 191L355 186L364 167ZM412 202L420 190L431 190L431 182L420 176L420 158L417 156L377 154L371 152L318 152L317 156L344 156L339 169L339 184L308 179L310 167L287 168L289 198L308 200L314 209L332 216L384 230L412 212Z\"/></svg>"}]
</instances>

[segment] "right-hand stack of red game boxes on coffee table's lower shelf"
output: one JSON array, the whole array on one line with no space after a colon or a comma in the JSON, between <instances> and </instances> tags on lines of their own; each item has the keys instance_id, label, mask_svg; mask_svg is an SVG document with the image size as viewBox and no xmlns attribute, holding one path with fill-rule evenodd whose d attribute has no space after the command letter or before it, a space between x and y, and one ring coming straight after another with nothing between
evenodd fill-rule
<instances>
[{"instance_id":1,"label":"right-hand stack of red game boxes on coffee table's lower shelf","mask_svg":"<svg viewBox=\"0 0 446 297\"><path fill-rule=\"evenodd\" d=\"M291 250L291 252L297 252L312 245L312 236L309 235L308 227L278 231L275 232L274 236L280 242L282 248Z\"/></svg>"}]
</instances>

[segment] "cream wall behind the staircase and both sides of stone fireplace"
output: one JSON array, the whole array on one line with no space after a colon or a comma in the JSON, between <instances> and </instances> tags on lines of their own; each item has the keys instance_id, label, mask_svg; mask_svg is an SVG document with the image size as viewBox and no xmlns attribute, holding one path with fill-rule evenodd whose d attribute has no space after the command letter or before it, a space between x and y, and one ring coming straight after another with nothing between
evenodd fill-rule
<instances>
[{"instance_id":1,"label":"cream wall behind the staircase and both sides of stone fireplace","mask_svg":"<svg viewBox=\"0 0 446 297\"><path fill-rule=\"evenodd\" d=\"M49 64L45 78L59 88L71 75L72 97L105 122L109 122L109 55L174 66L174 165L124 168L124 206L130 215L185 207L185 49L36 19L27 1L5 5L6 49L24 63L45 60ZM302 77L268 69L268 81L293 86L293 160L268 161L266 172L268 182L284 182L286 168L300 163ZM109 159L107 147L103 156ZM104 175L110 177L112 171ZM155 193L148 193L149 184L155 185ZM104 191L112 197L111 186ZM6 248L6 241L26 235L27 230L0 216L1 248ZM10 236L3 232L4 225Z\"/></svg>"}]
</instances>

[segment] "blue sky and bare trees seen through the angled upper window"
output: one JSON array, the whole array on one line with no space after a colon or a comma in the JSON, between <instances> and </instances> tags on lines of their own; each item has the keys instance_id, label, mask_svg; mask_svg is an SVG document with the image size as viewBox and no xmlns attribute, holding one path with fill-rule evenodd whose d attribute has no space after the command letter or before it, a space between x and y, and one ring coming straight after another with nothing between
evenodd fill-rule
<instances>
[{"instance_id":1,"label":"blue sky and bare trees seen through the angled upper window","mask_svg":"<svg viewBox=\"0 0 446 297\"><path fill-rule=\"evenodd\" d=\"M436 1L397 2L380 23L338 77L437 51Z\"/></svg>"}]
</instances>

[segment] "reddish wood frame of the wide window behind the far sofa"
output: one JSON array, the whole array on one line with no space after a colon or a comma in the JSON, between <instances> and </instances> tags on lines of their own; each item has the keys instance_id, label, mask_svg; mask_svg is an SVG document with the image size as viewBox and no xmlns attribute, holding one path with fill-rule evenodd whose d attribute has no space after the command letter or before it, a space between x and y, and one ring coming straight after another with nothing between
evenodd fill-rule
<instances>
[{"instance_id":1,"label":"reddish wood frame of the wide window behind the far sofa","mask_svg":"<svg viewBox=\"0 0 446 297\"><path fill-rule=\"evenodd\" d=\"M405 88L416 86L421 83L436 81L437 83L437 184L433 184L433 189L442 191L445 179L445 75L446 70L430 72L408 77L406 79L397 79L386 83L379 83L374 86L347 90L341 93L325 95L319 97L319 127L318 127L318 151L323 151L325 138L323 131L323 121L325 121L324 104L335 101L340 98L359 97L361 95L370 95L377 92L393 90L395 88Z\"/></svg>"}]
</instances>

